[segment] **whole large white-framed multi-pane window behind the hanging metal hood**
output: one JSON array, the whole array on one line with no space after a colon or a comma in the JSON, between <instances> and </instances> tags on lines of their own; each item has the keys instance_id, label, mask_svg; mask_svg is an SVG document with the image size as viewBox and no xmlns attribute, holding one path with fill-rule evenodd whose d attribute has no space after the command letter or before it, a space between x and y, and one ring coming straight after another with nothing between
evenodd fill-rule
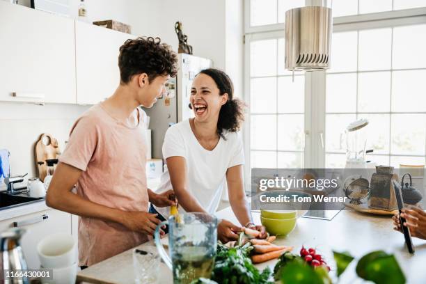
<instances>
[{"instance_id":1,"label":"whole large white-framed multi-pane window behind the hanging metal hood","mask_svg":"<svg viewBox=\"0 0 426 284\"><path fill-rule=\"evenodd\" d=\"M250 168L345 166L345 128L358 118L370 121L368 159L426 164L425 1L333 0L332 68L292 82L285 11L313 1L245 2L246 180Z\"/></svg>"}]
</instances>

